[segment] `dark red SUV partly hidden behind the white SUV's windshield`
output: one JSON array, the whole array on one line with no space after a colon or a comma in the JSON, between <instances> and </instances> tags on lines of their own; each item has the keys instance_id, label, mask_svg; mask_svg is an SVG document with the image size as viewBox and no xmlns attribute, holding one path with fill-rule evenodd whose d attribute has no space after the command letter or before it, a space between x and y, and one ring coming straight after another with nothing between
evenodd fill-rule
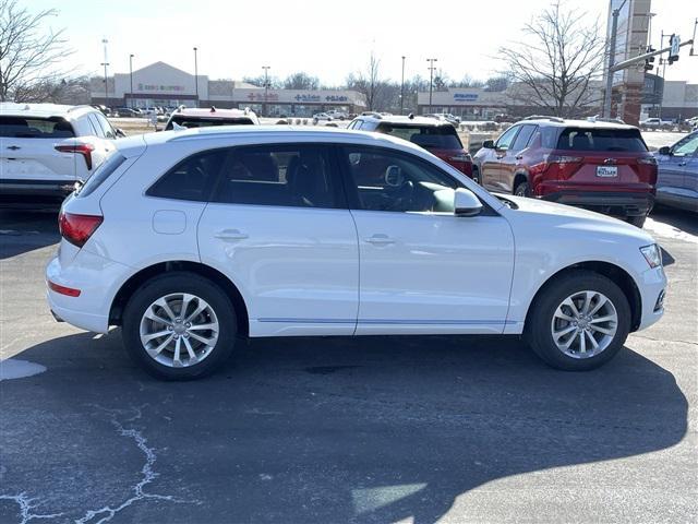
<instances>
[{"instance_id":1,"label":"dark red SUV partly hidden behind the white SUV's windshield","mask_svg":"<svg viewBox=\"0 0 698 524\"><path fill-rule=\"evenodd\" d=\"M413 115L398 117L372 114L354 118L348 129L375 131L407 140L472 178L472 158L464 150L456 128L448 121Z\"/></svg>"}]
</instances>

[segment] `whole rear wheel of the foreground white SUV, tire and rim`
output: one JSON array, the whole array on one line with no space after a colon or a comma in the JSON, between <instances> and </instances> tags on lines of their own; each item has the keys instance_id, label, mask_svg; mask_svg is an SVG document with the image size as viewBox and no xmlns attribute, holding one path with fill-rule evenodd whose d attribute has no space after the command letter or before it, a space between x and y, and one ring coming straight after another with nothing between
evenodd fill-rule
<instances>
[{"instance_id":1,"label":"whole rear wheel of the foreground white SUV, tire and rim","mask_svg":"<svg viewBox=\"0 0 698 524\"><path fill-rule=\"evenodd\" d=\"M230 356L236 334L230 299L195 273L153 278L131 297L123 314L128 352L147 372L164 380L212 373Z\"/></svg>"}]
</instances>

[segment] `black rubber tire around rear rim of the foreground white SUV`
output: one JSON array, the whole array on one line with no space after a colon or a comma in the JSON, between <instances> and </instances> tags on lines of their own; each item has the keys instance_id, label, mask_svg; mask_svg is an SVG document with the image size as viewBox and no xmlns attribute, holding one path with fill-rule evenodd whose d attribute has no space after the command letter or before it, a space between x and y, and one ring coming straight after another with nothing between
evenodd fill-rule
<instances>
[{"instance_id":1,"label":"black rubber tire around rear rim of the foreground white SUV","mask_svg":"<svg viewBox=\"0 0 698 524\"><path fill-rule=\"evenodd\" d=\"M201 362L188 367L169 367L151 357L141 342L141 319L149 306L160 297L188 293L205 300L218 320L218 338ZM146 282L133 294L123 312L123 344L131 357L149 374L163 380L193 380L218 369L230 356L236 343L238 323L228 296L216 284L196 273L184 271L166 273Z\"/></svg>"}]
</instances>

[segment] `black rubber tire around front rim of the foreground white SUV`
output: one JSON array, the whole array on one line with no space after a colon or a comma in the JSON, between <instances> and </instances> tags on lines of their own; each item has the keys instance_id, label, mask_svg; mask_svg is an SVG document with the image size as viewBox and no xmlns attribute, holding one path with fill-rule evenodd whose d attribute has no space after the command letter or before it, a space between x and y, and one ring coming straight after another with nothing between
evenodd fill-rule
<instances>
[{"instance_id":1,"label":"black rubber tire around front rim of the foreground white SUV","mask_svg":"<svg viewBox=\"0 0 698 524\"><path fill-rule=\"evenodd\" d=\"M557 347L551 323L557 307L578 291L599 291L615 307L617 327L609 346L588 358L574 358ZM611 360L625 344L630 330L630 306L621 288L603 275L586 270L563 273L546 283L535 297L526 322L525 338L531 349L549 366L565 371L588 371Z\"/></svg>"}]
</instances>

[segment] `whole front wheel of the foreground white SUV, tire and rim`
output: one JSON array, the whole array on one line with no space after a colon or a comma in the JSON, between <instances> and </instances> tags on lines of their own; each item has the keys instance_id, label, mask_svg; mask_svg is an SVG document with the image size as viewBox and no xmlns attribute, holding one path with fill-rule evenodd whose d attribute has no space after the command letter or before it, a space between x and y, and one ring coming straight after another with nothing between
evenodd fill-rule
<instances>
[{"instance_id":1,"label":"whole front wheel of the foreground white SUV, tire and rim","mask_svg":"<svg viewBox=\"0 0 698 524\"><path fill-rule=\"evenodd\" d=\"M526 338L550 366L586 371L613 358L629 327L630 307L621 288L577 270L550 282L531 305Z\"/></svg>"}]
</instances>

